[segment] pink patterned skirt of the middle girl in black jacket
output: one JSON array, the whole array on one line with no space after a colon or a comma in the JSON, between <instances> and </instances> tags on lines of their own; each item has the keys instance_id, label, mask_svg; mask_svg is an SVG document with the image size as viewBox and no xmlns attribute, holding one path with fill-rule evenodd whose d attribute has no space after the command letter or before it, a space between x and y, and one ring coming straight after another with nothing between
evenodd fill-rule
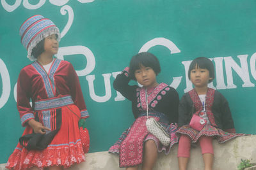
<instances>
[{"instance_id":1,"label":"pink patterned skirt of the middle girl in black jacket","mask_svg":"<svg viewBox=\"0 0 256 170\"><path fill-rule=\"evenodd\" d=\"M156 120L159 118L154 117ZM146 127L147 117L138 117L131 127L122 133L118 141L109 148L109 153L119 154L120 167L132 167L143 162L143 145L145 141L152 139L155 141L158 152L164 152L166 155L179 139L175 135L177 124L165 125L166 131L170 134L171 143L169 146L163 146L156 136L150 134Z\"/></svg>"}]
</instances>

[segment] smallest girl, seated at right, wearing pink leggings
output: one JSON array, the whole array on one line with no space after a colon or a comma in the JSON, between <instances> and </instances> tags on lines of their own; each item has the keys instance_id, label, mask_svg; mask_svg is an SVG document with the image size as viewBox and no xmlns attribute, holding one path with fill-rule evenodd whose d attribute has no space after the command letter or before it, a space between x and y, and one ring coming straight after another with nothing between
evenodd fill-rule
<instances>
[{"instance_id":1,"label":"smallest girl, seated at right, wearing pink leggings","mask_svg":"<svg viewBox=\"0 0 256 170\"><path fill-rule=\"evenodd\" d=\"M204 158L205 169L212 169L213 148L212 139L217 138L224 143L237 136L234 129L228 102L220 92L208 88L207 85L214 79L214 66L206 57L198 57L191 62L188 71L189 80L195 86L180 100L179 104L179 168L187 169L191 142L199 141ZM193 115L194 114L194 115ZM189 125L192 117L199 116L200 125ZM205 125L204 125L205 124ZM202 126L201 130L198 126ZM196 129L195 129L196 128Z\"/></svg>"}]
</instances>

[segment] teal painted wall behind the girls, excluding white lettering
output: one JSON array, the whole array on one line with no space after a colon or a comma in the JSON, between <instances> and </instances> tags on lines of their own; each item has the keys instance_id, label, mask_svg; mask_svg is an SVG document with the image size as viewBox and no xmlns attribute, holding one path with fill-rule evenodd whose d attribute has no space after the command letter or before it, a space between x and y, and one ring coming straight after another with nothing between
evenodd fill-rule
<instances>
[{"instance_id":1,"label":"teal painted wall behind the girls, excluding white lettering","mask_svg":"<svg viewBox=\"0 0 256 170\"><path fill-rule=\"evenodd\" d=\"M14 0L6 2L15 3ZM36 3L34 1L33 4ZM250 80L255 84L250 71L250 57L256 52L254 0L97 0L92 3L72 0L65 5L74 11L74 21L61 39L60 47L82 45L93 52L96 64L90 75L95 75L95 94L98 96L105 94L102 74L122 71L141 46L154 38L170 39L181 51L170 54L170 50L164 46L154 46L149 50L158 57L161 64L158 82L170 84L173 77L182 76L177 87L180 97L186 89L186 73L181 62L200 56L231 56L240 66L237 55L248 54ZM67 24L68 15L61 15L61 7L46 1L40 8L28 10L21 3L16 10L8 12L0 4L0 59L8 68L11 81L8 101L0 108L0 163L7 161L24 131L13 97L13 88L20 69L31 62L26 58L26 49L20 43L19 27L27 18L40 14L51 18L62 31ZM76 70L82 69L86 64L81 55L70 55L64 59L70 61ZM227 85L225 67L223 70ZM232 73L237 88L223 89L220 92L230 104L237 132L256 134L255 87L242 87L241 78L236 72ZM127 99L115 101L116 92L112 85L108 101L93 101L86 76L80 76L79 80L90 113L86 122L90 131L90 152L106 151L134 121L131 103ZM111 84L113 80L111 76ZM216 80L214 86L216 87ZM0 96L2 89L3 80L0 76Z\"/></svg>"}]
</instances>

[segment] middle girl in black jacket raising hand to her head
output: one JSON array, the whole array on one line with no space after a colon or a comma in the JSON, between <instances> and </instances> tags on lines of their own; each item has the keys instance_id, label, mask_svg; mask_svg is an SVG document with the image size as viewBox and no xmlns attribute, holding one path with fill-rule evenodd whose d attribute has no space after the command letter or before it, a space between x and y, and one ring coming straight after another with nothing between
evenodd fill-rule
<instances>
[{"instance_id":1,"label":"middle girl in black jacket raising hand to her head","mask_svg":"<svg viewBox=\"0 0 256 170\"><path fill-rule=\"evenodd\" d=\"M179 94L166 83L157 83L156 76L160 71L156 56L148 52L138 53L132 57L130 67L118 74L113 83L115 90L132 101L132 112L136 118L109 149L109 152L119 154L120 167L138 169L138 165L143 163L142 169L150 170L154 167L157 153L169 153L173 144L178 142L175 122L178 120ZM131 79L143 87L128 85ZM163 146L156 136L147 131L147 108L149 117L160 122L170 134L170 145Z\"/></svg>"}]
</instances>

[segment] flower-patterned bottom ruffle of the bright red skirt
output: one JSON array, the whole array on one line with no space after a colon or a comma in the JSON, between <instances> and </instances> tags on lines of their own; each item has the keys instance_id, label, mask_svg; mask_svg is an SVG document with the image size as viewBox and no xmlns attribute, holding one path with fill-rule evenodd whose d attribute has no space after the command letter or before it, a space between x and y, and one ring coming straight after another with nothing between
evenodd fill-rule
<instances>
[{"instance_id":1,"label":"flower-patterned bottom ruffle of the bright red skirt","mask_svg":"<svg viewBox=\"0 0 256 170\"><path fill-rule=\"evenodd\" d=\"M73 164L79 164L80 162L83 162L85 160L81 141L77 141L76 143L69 143L68 146L48 146L47 148L49 149L45 149L42 152L28 152L24 151L26 150L25 148L22 148L22 151L15 150L10 156L6 166L8 167L8 169L29 169L31 165L40 167L40 169L42 169L43 167L56 165L68 168ZM27 154L26 158L22 157L20 159L20 154ZM42 160L45 160L45 162L42 162ZM23 162L23 165L20 164L20 161Z\"/></svg>"}]
</instances>

